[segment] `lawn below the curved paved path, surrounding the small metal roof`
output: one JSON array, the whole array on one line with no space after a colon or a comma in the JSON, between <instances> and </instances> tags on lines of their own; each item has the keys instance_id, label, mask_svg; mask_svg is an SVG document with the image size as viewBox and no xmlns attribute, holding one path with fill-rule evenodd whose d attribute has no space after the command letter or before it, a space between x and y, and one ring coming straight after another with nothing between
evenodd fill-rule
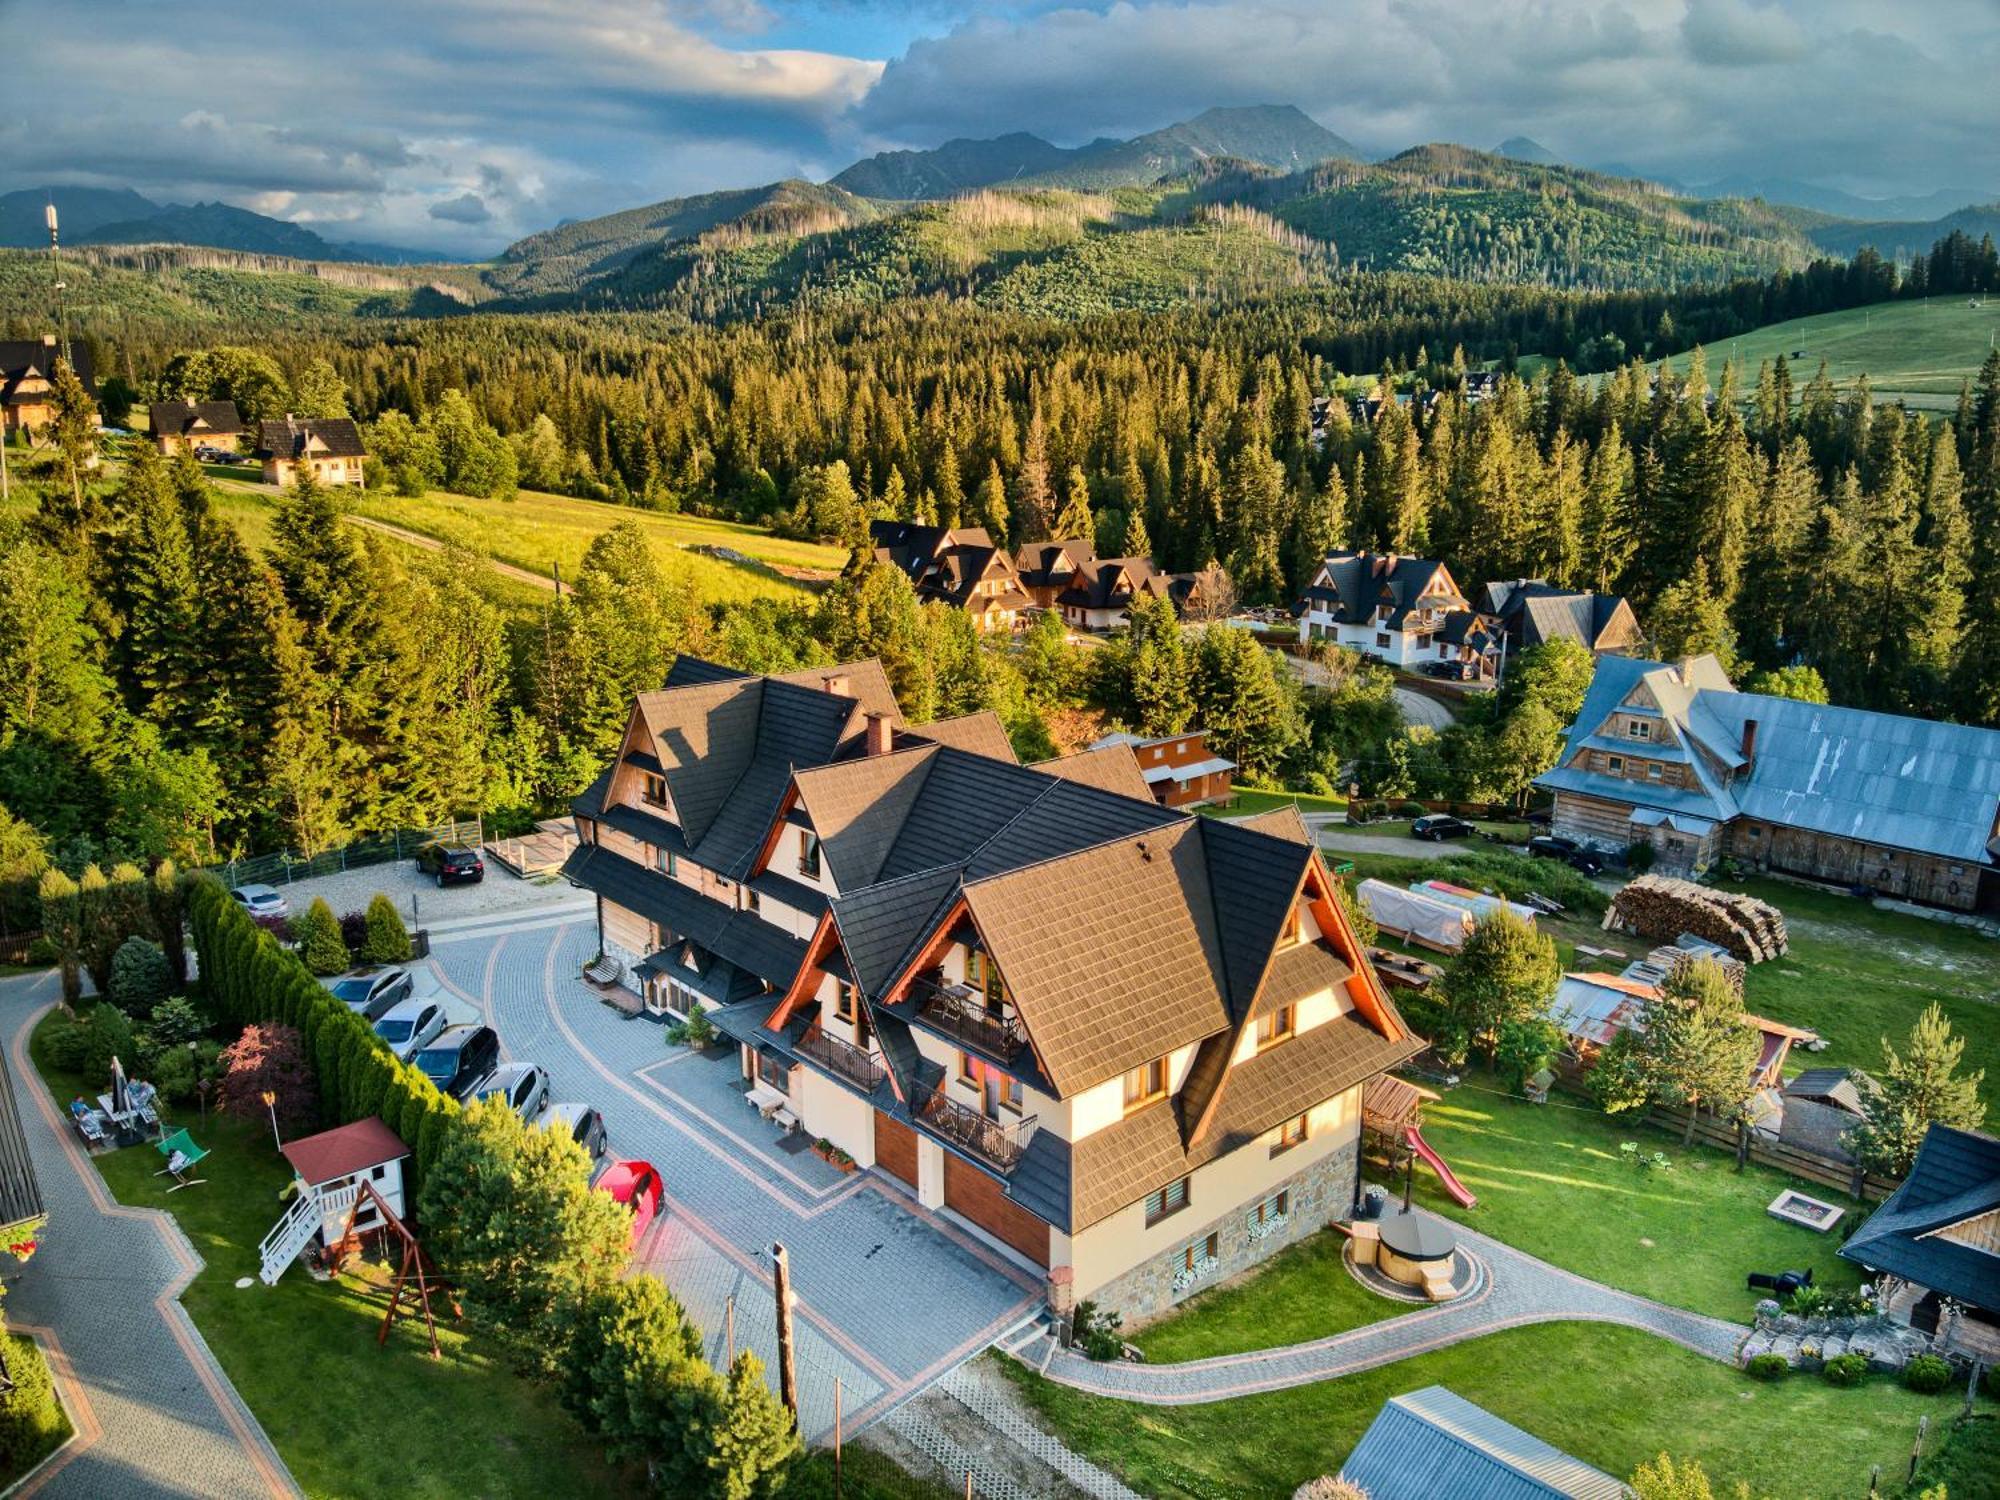
<instances>
[{"instance_id":1,"label":"lawn below the curved paved path, surrounding the small metal roof","mask_svg":"<svg viewBox=\"0 0 2000 1500\"><path fill-rule=\"evenodd\" d=\"M1668 1450L1758 1496L1850 1500L1882 1466L1900 1494L1918 1418L1942 1444L1958 1396L1914 1396L1884 1378L1838 1390L1792 1376L1764 1386L1726 1364L1634 1328L1536 1324L1412 1360L1208 1406L1134 1406L1086 1396L1002 1360L1002 1370L1070 1448L1152 1496L1286 1496L1340 1468L1390 1396L1450 1386L1578 1458L1624 1478ZM1990 1412L1992 1402L1980 1408ZM1940 1462L1950 1462L1944 1452ZM1952 1500L1992 1496L1966 1464ZM1722 1486L1716 1486L1718 1494Z\"/></svg>"}]
</instances>

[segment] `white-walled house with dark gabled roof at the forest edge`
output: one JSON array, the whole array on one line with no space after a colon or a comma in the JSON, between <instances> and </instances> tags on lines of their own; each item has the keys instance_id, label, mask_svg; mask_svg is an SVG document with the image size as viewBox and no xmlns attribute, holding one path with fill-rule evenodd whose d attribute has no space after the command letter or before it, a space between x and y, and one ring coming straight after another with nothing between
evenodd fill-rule
<instances>
[{"instance_id":1,"label":"white-walled house with dark gabled roof at the forest edge","mask_svg":"<svg viewBox=\"0 0 2000 1500\"><path fill-rule=\"evenodd\" d=\"M1424 670L1454 662L1474 680L1500 668L1500 622L1458 588L1432 558L1396 552L1334 552L1300 596L1298 642L1332 640L1362 656Z\"/></svg>"}]
</instances>

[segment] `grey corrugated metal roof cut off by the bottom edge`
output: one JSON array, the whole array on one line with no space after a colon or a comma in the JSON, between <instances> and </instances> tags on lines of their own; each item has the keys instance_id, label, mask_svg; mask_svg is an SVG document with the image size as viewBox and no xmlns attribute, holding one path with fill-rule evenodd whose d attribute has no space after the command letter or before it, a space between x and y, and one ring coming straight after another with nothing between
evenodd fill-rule
<instances>
[{"instance_id":1,"label":"grey corrugated metal roof cut off by the bottom edge","mask_svg":"<svg viewBox=\"0 0 2000 1500\"><path fill-rule=\"evenodd\" d=\"M1626 1486L1444 1386L1392 1396L1340 1466L1368 1500L1624 1500Z\"/></svg>"}]
</instances>

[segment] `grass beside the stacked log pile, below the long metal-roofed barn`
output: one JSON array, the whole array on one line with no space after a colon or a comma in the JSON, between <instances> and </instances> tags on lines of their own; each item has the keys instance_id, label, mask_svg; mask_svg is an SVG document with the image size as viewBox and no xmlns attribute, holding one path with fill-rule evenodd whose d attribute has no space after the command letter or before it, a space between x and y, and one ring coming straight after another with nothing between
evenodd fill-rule
<instances>
[{"instance_id":1,"label":"grass beside the stacked log pile, below the long metal-roofed barn","mask_svg":"<svg viewBox=\"0 0 2000 1500\"><path fill-rule=\"evenodd\" d=\"M1780 880L1730 886L1786 916L1792 950L1754 964L1744 1004L1760 1016L1810 1026L1824 1052L1792 1052L1792 1068L1882 1068L1882 1038L1898 1048L1936 1000L1966 1038L1962 1070L1984 1068L1984 1098L2000 1106L2000 942L1972 928L1882 912L1864 900Z\"/></svg>"}]
</instances>

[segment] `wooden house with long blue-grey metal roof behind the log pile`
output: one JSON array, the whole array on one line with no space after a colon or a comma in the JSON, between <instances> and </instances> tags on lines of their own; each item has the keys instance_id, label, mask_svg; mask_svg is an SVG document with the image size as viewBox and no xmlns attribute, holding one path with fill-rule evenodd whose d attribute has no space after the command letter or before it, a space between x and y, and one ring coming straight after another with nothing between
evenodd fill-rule
<instances>
[{"instance_id":1,"label":"wooden house with long blue-grey metal roof behind the log pile","mask_svg":"<svg viewBox=\"0 0 2000 1500\"><path fill-rule=\"evenodd\" d=\"M1972 910L2000 824L2000 732L1738 692L1714 656L1600 656L1552 828L1656 866L1756 870Z\"/></svg>"}]
</instances>

